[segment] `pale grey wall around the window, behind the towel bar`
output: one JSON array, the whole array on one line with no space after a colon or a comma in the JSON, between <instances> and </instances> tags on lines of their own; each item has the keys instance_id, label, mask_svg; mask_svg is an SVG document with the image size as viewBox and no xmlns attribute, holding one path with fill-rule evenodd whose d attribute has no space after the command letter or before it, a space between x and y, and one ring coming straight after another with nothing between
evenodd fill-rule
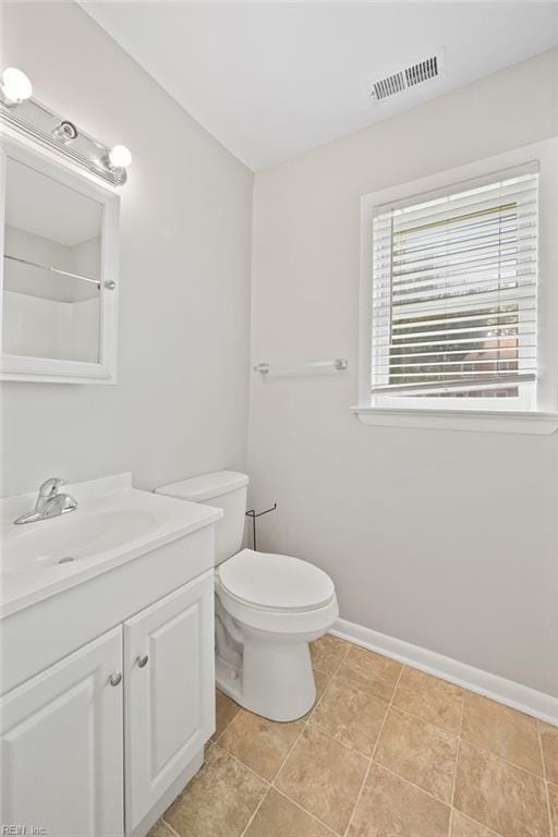
<instances>
[{"instance_id":1,"label":"pale grey wall around the window, behind the towel bar","mask_svg":"<svg viewBox=\"0 0 558 837\"><path fill-rule=\"evenodd\" d=\"M253 375L262 546L336 581L341 615L558 695L558 434L366 427L356 401L363 194L558 133L558 53L258 172L253 361L350 359L350 375ZM555 277L556 279L556 277Z\"/></svg>"}]
</instances>

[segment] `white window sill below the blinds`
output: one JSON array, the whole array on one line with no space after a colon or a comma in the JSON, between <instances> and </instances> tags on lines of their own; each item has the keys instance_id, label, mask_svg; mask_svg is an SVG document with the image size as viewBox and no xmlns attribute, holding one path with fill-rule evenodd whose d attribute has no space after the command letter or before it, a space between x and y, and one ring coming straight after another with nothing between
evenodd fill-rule
<instances>
[{"instance_id":1,"label":"white window sill below the blinds","mask_svg":"<svg viewBox=\"0 0 558 837\"><path fill-rule=\"evenodd\" d=\"M388 407L351 407L363 424L379 427L422 427L476 433L524 433L549 436L558 428L558 413L488 410L414 410Z\"/></svg>"}]
</instances>

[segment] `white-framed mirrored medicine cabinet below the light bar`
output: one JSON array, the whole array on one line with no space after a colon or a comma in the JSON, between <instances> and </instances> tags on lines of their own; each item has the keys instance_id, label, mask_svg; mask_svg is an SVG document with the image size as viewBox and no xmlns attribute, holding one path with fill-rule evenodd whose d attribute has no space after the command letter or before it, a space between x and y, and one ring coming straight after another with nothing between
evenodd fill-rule
<instances>
[{"instance_id":1,"label":"white-framed mirrored medicine cabinet below the light bar","mask_svg":"<svg viewBox=\"0 0 558 837\"><path fill-rule=\"evenodd\" d=\"M116 381L118 203L45 151L2 143L4 380Z\"/></svg>"}]
</instances>

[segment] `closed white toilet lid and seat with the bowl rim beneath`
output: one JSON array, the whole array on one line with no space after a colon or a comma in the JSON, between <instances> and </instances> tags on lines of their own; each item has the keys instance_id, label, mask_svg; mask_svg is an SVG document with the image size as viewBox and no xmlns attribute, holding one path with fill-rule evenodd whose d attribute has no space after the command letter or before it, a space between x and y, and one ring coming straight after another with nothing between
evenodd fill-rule
<instances>
[{"instance_id":1,"label":"closed white toilet lid and seat with the bowl rim beneath","mask_svg":"<svg viewBox=\"0 0 558 837\"><path fill-rule=\"evenodd\" d=\"M242 549L217 569L216 592L233 619L266 633L324 632L339 616L329 575L288 555Z\"/></svg>"}]
</instances>

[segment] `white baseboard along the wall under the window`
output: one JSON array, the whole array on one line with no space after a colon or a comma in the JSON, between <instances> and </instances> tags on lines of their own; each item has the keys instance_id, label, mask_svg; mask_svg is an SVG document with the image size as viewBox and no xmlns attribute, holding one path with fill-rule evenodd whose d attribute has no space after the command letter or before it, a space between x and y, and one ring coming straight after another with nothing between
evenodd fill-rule
<instances>
[{"instance_id":1,"label":"white baseboard along the wall under the window","mask_svg":"<svg viewBox=\"0 0 558 837\"><path fill-rule=\"evenodd\" d=\"M451 657L445 657L444 654L397 640L371 628L348 622L347 619L338 619L330 633L558 727L558 698L550 694L537 692L529 686L468 666Z\"/></svg>"}]
</instances>

